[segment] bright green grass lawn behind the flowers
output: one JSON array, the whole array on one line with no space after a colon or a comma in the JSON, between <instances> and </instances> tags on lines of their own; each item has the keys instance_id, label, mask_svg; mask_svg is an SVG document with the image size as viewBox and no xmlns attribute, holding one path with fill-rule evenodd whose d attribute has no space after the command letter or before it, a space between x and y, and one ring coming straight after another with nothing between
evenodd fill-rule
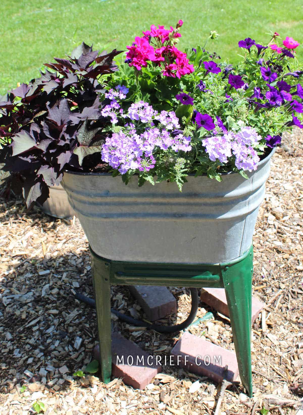
<instances>
[{"instance_id":1,"label":"bright green grass lawn behind the flowers","mask_svg":"<svg viewBox=\"0 0 303 415\"><path fill-rule=\"evenodd\" d=\"M178 48L203 44L210 30L220 37L208 44L236 62L238 41L269 41L266 32L303 43L303 2L292 0L2 0L0 94L39 76L43 63L64 57L85 41L94 49L125 49L151 24L175 27L184 21ZM303 58L303 45L298 48Z\"/></svg>"}]
</instances>

